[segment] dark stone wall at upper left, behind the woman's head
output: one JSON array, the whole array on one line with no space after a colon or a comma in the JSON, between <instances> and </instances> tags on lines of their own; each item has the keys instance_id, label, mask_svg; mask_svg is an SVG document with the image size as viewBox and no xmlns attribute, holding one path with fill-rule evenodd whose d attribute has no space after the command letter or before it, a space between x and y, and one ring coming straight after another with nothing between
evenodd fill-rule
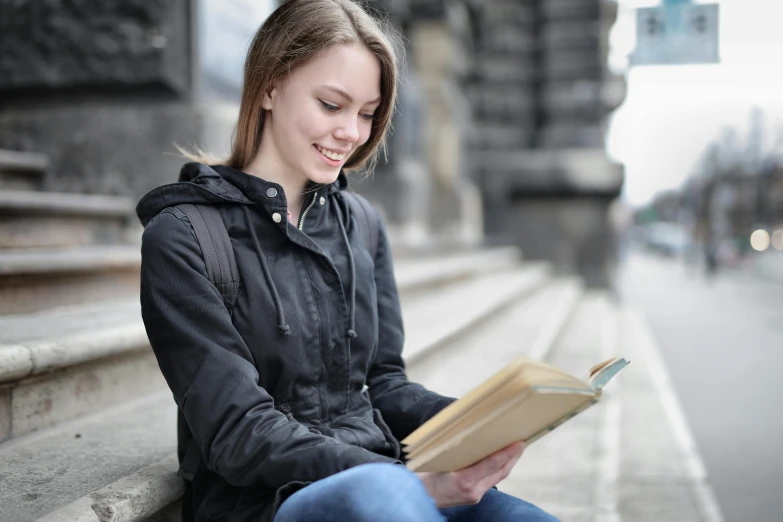
<instances>
[{"instance_id":1,"label":"dark stone wall at upper left, behind the woman's head","mask_svg":"<svg viewBox=\"0 0 783 522\"><path fill-rule=\"evenodd\" d=\"M139 197L176 181L176 145L227 150L240 93L212 88L197 43L228 36L200 15L253 4L223 28L248 33L261 3L0 0L0 148L47 154L44 190ZM232 49L241 67L246 48Z\"/></svg>"}]
</instances>

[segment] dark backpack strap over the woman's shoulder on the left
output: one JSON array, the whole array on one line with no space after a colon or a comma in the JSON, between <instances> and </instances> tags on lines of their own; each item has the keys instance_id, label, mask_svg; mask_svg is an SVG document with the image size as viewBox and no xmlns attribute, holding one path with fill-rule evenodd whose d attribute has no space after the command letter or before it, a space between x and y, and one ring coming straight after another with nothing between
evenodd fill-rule
<instances>
[{"instance_id":1,"label":"dark backpack strap over the woman's shoulder on the left","mask_svg":"<svg viewBox=\"0 0 783 522\"><path fill-rule=\"evenodd\" d=\"M226 305L228 313L232 314L239 292L239 270L223 218L220 217L220 212L210 205L184 204L179 205L179 208L188 217L196 233L207 266L207 276L223 296L223 304ZM182 411L179 415L182 415ZM192 481L200 462L201 448L191 434L177 475Z\"/></svg>"}]
</instances>

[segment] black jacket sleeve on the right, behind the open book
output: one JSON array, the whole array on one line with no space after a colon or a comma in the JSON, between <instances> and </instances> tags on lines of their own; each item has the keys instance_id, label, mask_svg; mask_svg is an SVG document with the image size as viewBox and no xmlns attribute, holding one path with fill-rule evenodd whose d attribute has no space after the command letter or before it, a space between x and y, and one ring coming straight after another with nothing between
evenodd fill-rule
<instances>
[{"instance_id":1,"label":"black jacket sleeve on the right, behind the open book","mask_svg":"<svg viewBox=\"0 0 783 522\"><path fill-rule=\"evenodd\" d=\"M402 348L405 335L391 247L383 220L378 217L375 285L378 293L378 349L367 376L370 400L398 440L402 440L455 399L410 382Z\"/></svg>"}]
</instances>

